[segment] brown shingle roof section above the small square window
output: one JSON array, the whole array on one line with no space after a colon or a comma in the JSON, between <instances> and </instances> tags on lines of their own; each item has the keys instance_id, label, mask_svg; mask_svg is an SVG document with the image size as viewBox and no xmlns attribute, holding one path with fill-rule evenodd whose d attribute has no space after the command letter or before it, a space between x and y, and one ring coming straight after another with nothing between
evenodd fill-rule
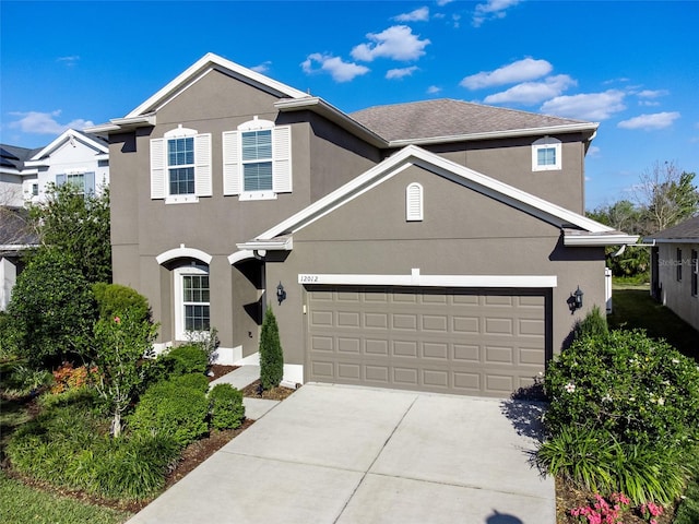
<instances>
[{"instance_id":1,"label":"brown shingle roof section above the small square window","mask_svg":"<svg viewBox=\"0 0 699 524\"><path fill-rule=\"evenodd\" d=\"M388 141L590 123L450 98L369 107L350 116Z\"/></svg>"}]
</instances>

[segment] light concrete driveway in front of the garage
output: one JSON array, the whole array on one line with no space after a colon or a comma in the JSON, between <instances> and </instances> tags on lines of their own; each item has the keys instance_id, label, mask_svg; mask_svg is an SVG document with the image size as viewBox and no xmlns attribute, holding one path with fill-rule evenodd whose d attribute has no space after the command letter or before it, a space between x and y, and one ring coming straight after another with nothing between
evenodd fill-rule
<instances>
[{"instance_id":1,"label":"light concrete driveway in front of the garage","mask_svg":"<svg viewBox=\"0 0 699 524\"><path fill-rule=\"evenodd\" d=\"M555 523L536 403L306 384L135 515L145 523Z\"/></svg>"}]
</instances>

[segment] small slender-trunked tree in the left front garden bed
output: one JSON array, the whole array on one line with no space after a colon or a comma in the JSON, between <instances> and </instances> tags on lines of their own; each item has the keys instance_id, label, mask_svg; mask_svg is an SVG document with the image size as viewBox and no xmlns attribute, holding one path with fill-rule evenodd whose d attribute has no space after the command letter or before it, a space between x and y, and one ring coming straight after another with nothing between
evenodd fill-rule
<instances>
[{"instance_id":1,"label":"small slender-trunked tree in the left front garden bed","mask_svg":"<svg viewBox=\"0 0 699 524\"><path fill-rule=\"evenodd\" d=\"M100 318L94 329L96 389L109 404L111 434L121 434L121 415L129 407L146 376L143 358L153 350L157 325L144 319L138 307Z\"/></svg>"}]
</instances>

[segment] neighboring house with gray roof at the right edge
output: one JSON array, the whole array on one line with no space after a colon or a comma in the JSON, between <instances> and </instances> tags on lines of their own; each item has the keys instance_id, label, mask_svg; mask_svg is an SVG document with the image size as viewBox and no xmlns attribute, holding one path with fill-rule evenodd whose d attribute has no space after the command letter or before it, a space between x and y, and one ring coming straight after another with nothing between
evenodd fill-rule
<instances>
[{"instance_id":1,"label":"neighboring house with gray roof at the right edge","mask_svg":"<svg viewBox=\"0 0 699 524\"><path fill-rule=\"evenodd\" d=\"M651 294L699 330L699 216L644 239L651 248Z\"/></svg>"}]
</instances>

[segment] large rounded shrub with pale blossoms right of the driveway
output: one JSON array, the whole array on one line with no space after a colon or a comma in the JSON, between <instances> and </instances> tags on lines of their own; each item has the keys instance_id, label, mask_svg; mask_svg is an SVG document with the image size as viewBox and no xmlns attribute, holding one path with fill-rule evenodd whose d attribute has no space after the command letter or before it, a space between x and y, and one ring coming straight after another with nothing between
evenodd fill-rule
<instances>
[{"instance_id":1,"label":"large rounded shrub with pale blossoms right of the driveway","mask_svg":"<svg viewBox=\"0 0 699 524\"><path fill-rule=\"evenodd\" d=\"M665 342L613 331L573 342L550 364L545 428L593 424L623 444L679 446L699 438L699 369Z\"/></svg>"}]
</instances>

